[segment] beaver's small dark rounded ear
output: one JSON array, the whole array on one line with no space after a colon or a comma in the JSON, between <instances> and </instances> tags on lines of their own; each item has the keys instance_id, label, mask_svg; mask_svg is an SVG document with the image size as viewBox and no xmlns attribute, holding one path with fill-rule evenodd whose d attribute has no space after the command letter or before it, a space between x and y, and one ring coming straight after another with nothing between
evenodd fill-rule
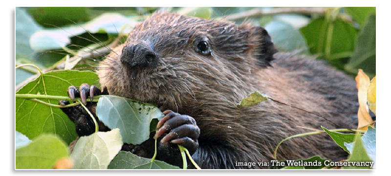
<instances>
[{"instance_id":1,"label":"beaver's small dark rounded ear","mask_svg":"<svg viewBox=\"0 0 391 176\"><path fill-rule=\"evenodd\" d=\"M254 56L258 59L261 67L272 66L273 55L277 52L271 37L263 27L255 27L254 35L257 36L255 41Z\"/></svg>"}]
</instances>

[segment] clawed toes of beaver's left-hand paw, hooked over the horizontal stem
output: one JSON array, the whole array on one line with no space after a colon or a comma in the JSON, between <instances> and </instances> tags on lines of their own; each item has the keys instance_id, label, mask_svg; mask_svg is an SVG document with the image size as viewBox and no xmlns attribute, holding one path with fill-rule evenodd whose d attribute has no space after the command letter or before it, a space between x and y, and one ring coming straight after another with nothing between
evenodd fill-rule
<instances>
[{"instance_id":1,"label":"clawed toes of beaver's left-hand paw, hooked over the horizontal stem","mask_svg":"<svg viewBox=\"0 0 391 176\"><path fill-rule=\"evenodd\" d=\"M87 105L88 97L92 101L94 96L100 95L102 93L102 91L95 85L89 86L88 84L82 84L79 89L75 86L70 86L67 92L71 100L75 100L76 97L80 97L84 105Z\"/></svg>"}]
</instances>

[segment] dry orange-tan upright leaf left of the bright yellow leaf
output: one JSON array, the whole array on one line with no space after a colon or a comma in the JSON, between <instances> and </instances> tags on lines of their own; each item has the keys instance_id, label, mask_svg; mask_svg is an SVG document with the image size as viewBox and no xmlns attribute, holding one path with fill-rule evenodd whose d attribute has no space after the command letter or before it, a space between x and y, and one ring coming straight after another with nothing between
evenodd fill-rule
<instances>
[{"instance_id":1,"label":"dry orange-tan upright leaf left of the bright yellow leaf","mask_svg":"<svg viewBox=\"0 0 391 176\"><path fill-rule=\"evenodd\" d=\"M358 130L367 130L368 125L373 126L372 118L367 111L367 93L369 87L369 77L363 72L362 69L358 70L356 76L357 89L358 89Z\"/></svg>"}]
</instances>

